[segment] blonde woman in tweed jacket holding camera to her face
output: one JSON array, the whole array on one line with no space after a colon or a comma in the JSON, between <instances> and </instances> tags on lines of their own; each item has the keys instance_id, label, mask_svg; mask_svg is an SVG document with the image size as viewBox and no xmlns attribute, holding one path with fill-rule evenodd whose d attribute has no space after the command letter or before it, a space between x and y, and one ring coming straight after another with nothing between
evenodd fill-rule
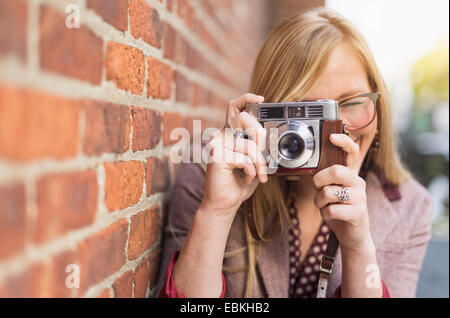
<instances>
[{"instance_id":1,"label":"blonde woman in tweed jacket holding camera to her face","mask_svg":"<svg viewBox=\"0 0 450 318\"><path fill-rule=\"evenodd\" d=\"M208 143L214 159L233 153L249 162L213 160L206 173L195 164L179 169L160 296L315 297L332 230L339 249L328 297L413 297L430 238L431 200L398 159L388 92L360 33L325 8L287 19L263 44L250 91L230 102L225 122L252 138L235 144L224 127ZM369 116L351 108L361 98ZM350 132L330 141L347 153L345 165L295 180L267 175L259 151L265 131L245 105L318 99L339 101ZM346 200L336 195L343 188ZM274 217L279 221L272 238L252 237L240 208L248 198L261 232Z\"/></svg>"}]
</instances>

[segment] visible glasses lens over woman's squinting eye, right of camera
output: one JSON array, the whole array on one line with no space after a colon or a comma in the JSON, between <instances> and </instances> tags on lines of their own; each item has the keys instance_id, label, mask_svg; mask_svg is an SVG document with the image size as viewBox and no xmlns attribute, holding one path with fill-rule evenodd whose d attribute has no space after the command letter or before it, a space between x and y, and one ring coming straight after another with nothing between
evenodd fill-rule
<instances>
[{"instance_id":1,"label":"visible glasses lens over woman's squinting eye, right of camera","mask_svg":"<svg viewBox=\"0 0 450 318\"><path fill-rule=\"evenodd\" d=\"M375 116L375 104L370 97L355 97L339 104L339 116L350 128L363 127Z\"/></svg>"}]
</instances>

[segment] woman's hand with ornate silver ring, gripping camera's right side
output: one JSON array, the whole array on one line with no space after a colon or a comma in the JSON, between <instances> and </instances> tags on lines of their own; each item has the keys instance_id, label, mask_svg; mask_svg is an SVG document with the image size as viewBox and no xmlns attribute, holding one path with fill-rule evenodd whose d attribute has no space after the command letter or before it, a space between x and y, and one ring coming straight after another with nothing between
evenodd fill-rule
<instances>
[{"instance_id":1,"label":"woman's hand with ornate silver ring, gripping camera's right side","mask_svg":"<svg viewBox=\"0 0 450 318\"><path fill-rule=\"evenodd\" d=\"M334 231L342 251L372 247L367 210L366 182L359 177L359 146L345 134L333 134L331 142L346 153L346 166L333 165L313 177L314 199L323 220ZM337 191L348 188L349 200L340 202Z\"/></svg>"}]
</instances>

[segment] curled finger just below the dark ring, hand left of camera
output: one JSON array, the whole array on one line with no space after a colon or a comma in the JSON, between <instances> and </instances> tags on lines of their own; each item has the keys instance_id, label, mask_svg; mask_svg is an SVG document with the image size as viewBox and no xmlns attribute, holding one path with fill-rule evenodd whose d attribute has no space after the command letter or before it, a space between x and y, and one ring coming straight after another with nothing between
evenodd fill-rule
<instances>
[{"instance_id":1,"label":"curled finger just below the dark ring, hand left of camera","mask_svg":"<svg viewBox=\"0 0 450 318\"><path fill-rule=\"evenodd\" d=\"M238 143L228 142L230 138L226 138L227 142L224 144L229 150L234 152L243 153L248 156L252 163L255 165L256 174L261 183L265 183L268 180L267 176L267 163L262 155L261 151L258 150L256 143L252 140L241 138Z\"/></svg>"}]
</instances>

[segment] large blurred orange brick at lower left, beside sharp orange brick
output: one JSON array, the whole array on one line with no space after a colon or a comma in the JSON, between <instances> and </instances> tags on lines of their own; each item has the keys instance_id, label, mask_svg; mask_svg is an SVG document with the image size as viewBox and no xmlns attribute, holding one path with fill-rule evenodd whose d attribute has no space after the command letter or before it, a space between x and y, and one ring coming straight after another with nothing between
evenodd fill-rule
<instances>
[{"instance_id":1,"label":"large blurred orange brick at lower left, beside sharp orange brick","mask_svg":"<svg viewBox=\"0 0 450 318\"><path fill-rule=\"evenodd\" d=\"M98 185L92 170L41 177L36 182L36 192L37 243L89 225L95 218Z\"/></svg>"}]
</instances>

